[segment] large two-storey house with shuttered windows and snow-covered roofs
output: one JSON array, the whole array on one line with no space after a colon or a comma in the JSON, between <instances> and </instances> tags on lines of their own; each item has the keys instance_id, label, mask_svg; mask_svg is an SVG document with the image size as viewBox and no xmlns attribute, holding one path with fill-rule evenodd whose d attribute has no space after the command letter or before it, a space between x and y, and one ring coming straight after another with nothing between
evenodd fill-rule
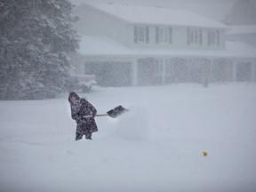
<instances>
[{"instance_id":1,"label":"large two-storey house with shuttered windows and snow-covered roofs","mask_svg":"<svg viewBox=\"0 0 256 192\"><path fill-rule=\"evenodd\" d=\"M225 40L228 26L194 12L80 4L77 73L101 86L256 81L256 49Z\"/></svg>"}]
</instances>

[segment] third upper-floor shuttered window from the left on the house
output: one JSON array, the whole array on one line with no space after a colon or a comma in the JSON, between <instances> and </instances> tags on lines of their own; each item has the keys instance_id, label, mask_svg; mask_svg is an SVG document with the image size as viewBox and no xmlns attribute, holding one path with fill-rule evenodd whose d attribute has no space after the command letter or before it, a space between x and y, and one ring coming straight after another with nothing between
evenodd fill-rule
<instances>
[{"instance_id":1,"label":"third upper-floor shuttered window from the left on the house","mask_svg":"<svg viewBox=\"0 0 256 192\"><path fill-rule=\"evenodd\" d=\"M203 44L202 29L188 28L187 29L187 44Z\"/></svg>"}]
</instances>

